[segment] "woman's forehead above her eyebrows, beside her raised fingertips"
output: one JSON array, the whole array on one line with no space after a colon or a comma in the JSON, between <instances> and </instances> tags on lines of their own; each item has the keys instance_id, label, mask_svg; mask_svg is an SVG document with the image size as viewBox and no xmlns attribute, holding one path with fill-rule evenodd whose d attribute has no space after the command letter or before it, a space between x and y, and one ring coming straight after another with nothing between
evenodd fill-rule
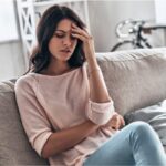
<instances>
[{"instance_id":1,"label":"woman's forehead above her eyebrows, beside her raised fingertips","mask_svg":"<svg viewBox=\"0 0 166 166\"><path fill-rule=\"evenodd\" d=\"M63 19L59 22L56 30L70 31L72 28L72 23L74 22L69 19Z\"/></svg>"}]
</instances>

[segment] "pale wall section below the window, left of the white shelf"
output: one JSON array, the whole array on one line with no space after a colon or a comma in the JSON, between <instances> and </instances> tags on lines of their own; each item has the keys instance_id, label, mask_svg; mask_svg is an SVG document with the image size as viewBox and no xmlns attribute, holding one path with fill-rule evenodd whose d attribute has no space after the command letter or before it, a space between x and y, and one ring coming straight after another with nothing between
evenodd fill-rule
<instances>
[{"instance_id":1,"label":"pale wall section below the window, left of the white shelf","mask_svg":"<svg viewBox=\"0 0 166 166\"><path fill-rule=\"evenodd\" d=\"M14 79L25 71L21 42L0 44L0 81Z\"/></svg>"}]
</instances>

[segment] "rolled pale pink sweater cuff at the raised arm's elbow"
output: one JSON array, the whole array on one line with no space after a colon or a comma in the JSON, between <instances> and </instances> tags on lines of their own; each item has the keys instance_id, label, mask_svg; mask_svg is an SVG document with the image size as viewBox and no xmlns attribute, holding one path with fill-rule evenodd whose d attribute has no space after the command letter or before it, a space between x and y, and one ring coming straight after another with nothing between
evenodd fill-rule
<instances>
[{"instance_id":1,"label":"rolled pale pink sweater cuff at the raised arm's elbow","mask_svg":"<svg viewBox=\"0 0 166 166\"><path fill-rule=\"evenodd\" d=\"M86 116L95 124L106 124L114 113L113 101L107 103L95 103L89 100L86 105Z\"/></svg>"}]
</instances>

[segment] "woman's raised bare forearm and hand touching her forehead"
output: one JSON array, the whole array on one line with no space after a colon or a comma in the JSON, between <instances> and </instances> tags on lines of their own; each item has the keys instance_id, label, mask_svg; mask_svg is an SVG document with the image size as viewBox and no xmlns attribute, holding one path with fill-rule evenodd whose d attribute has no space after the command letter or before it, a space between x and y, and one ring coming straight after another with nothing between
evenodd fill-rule
<instances>
[{"instance_id":1,"label":"woman's raised bare forearm and hand touching her forehead","mask_svg":"<svg viewBox=\"0 0 166 166\"><path fill-rule=\"evenodd\" d=\"M103 74L98 69L98 64L95 58L94 41L86 30L82 30L75 24L72 24L72 35L83 41L83 50L87 61L89 81L90 81L90 97L93 102L105 103L110 102Z\"/></svg>"}]
</instances>

